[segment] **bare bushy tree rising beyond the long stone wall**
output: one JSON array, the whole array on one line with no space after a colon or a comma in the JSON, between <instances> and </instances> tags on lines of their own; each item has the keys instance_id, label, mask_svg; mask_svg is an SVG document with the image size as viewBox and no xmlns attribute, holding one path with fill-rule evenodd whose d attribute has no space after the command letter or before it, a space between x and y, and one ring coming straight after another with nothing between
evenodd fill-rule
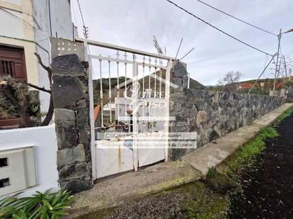
<instances>
[{"instance_id":1,"label":"bare bushy tree rising beyond the long stone wall","mask_svg":"<svg viewBox=\"0 0 293 219\"><path fill-rule=\"evenodd\" d=\"M235 92L238 90L240 79L244 76L241 72L227 72L222 79L218 80L218 89L225 92Z\"/></svg>"}]
</instances>

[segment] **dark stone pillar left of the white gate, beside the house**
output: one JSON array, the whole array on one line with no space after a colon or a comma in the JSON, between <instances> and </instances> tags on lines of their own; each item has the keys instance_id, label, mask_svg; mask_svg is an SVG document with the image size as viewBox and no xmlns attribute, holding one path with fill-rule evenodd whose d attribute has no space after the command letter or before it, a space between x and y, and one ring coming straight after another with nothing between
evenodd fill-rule
<instances>
[{"instance_id":1,"label":"dark stone pillar left of the white gate, beside the house","mask_svg":"<svg viewBox=\"0 0 293 219\"><path fill-rule=\"evenodd\" d=\"M55 39L52 45L57 45L56 42L60 45L64 40ZM61 46L58 46L58 50ZM84 50L83 44L74 43L74 47L78 51ZM51 64L59 184L62 189L72 193L85 191L92 186L90 99L87 66L81 64L84 60L83 52L59 54L53 57Z\"/></svg>"}]
</instances>

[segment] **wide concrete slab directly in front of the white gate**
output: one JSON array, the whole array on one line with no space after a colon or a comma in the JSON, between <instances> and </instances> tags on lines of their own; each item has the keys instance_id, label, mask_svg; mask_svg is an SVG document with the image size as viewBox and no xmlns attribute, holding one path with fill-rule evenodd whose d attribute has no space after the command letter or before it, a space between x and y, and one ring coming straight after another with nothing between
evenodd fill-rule
<instances>
[{"instance_id":1,"label":"wide concrete slab directly in front of the white gate","mask_svg":"<svg viewBox=\"0 0 293 219\"><path fill-rule=\"evenodd\" d=\"M151 193L186 184L201 178L201 172L182 161L164 162L139 172L129 172L97 182L92 189L79 193L71 206L75 218L102 208L119 206Z\"/></svg>"}]
</instances>

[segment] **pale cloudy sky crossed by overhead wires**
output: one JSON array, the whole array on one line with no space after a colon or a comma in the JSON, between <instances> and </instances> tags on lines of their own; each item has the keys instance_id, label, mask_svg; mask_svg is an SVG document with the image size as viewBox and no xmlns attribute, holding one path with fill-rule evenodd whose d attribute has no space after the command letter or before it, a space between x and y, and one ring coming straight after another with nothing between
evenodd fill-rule
<instances>
[{"instance_id":1,"label":"pale cloudy sky crossed by overhead wires","mask_svg":"<svg viewBox=\"0 0 293 219\"><path fill-rule=\"evenodd\" d=\"M269 54L277 52L275 35L247 26L196 0L173 1L245 43ZM203 1L275 34L280 28L293 28L292 0ZM73 22L82 36L77 0L71 4ZM175 57L183 38L178 57L195 47L182 62L186 62L191 78L205 85L216 84L229 71L243 73L243 80L255 79L270 60L270 56L238 43L166 0L80 0L80 6L90 40L156 52L155 35L159 44L166 46L166 55ZM293 57L293 32L282 35L281 46L283 55ZM272 72L268 68L262 78L273 77Z\"/></svg>"}]
</instances>

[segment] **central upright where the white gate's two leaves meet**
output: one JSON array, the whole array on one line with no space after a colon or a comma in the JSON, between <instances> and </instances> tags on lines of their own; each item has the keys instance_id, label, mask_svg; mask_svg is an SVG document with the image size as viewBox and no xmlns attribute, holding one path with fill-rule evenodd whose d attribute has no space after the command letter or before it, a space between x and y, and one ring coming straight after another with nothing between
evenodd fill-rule
<instances>
[{"instance_id":1,"label":"central upright where the white gate's two leaves meet","mask_svg":"<svg viewBox=\"0 0 293 219\"><path fill-rule=\"evenodd\" d=\"M137 125L137 101L138 101L138 66L135 55L133 55L133 69L132 69L132 130L133 130L133 167L134 171L137 171L138 159L137 159L137 134L138 134L138 125Z\"/></svg>"}]
</instances>

